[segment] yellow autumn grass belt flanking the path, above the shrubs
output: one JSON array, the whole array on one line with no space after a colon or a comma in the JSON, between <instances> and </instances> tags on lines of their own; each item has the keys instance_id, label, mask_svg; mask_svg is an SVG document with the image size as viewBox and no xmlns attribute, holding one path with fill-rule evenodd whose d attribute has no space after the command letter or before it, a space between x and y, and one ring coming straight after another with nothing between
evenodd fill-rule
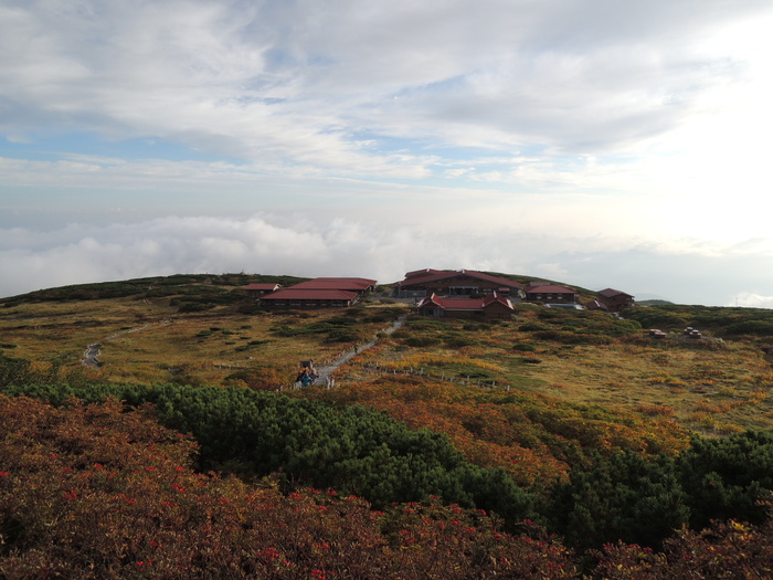
<instances>
[{"instance_id":1,"label":"yellow autumn grass belt flanking the path, above the shrubs","mask_svg":"<svg viewBox=\"0 0 773 580\"><path fill-rule=\"evenodd\" d=\"M406 325L359 354L338 380L361 380L358 366L373 362L389 370L424 368L434 375L478 369L494 375L500 388L512 386L566 402L634 411L654 420L663 418L656 410L670 409L669 419L709 433L714 432L720 415L726 425L773 425L773 397L769 396L773 372L751 344L727 340L721 349L700 349L692 342L654 342L634 336L608 345L565 345L519 329L538 312L474 329L465 329L464 321L442 323L448 335L470 338L470 346L460 348L447 346L442 338L421 350L410 347L405 339L414 335ZM236 367L262 365L285 369L292 380L299 360L320 363L350 349L352 344L330 342L324 335L278 336L272 331L277 326L303 328L336 316L341 312L241 315L226 307L181 314L166 298L72 300L0 308L0 336L3 344L15 346L4 348L6 355L25 358L40 368L49 368L52 361L80 368L86 345L98 342L104 366L87 372L105 380L165 382L176 371L218 384ZM358 323L363 336L375 336L389 326L364 320ZM513 345L529 345L532 351Z\"/></svg>"}]
</instances>

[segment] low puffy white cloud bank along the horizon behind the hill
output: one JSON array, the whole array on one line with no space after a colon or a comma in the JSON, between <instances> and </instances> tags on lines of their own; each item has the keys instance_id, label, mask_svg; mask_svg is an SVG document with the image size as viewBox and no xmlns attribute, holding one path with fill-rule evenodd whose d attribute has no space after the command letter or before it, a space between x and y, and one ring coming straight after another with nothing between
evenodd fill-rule
<instances>
[{"instance_id":1,"label":"low puffy white cloud bank along the horizon behind the hill","mask_svg":"<svg viewBox=\"0 0 773 580\"><path fill-rule=\"evenodd\" d=\"M640 243L565 240L509 232L459 238L411 228L300 215L165 218L59 231L0 230L0 296L87 282L177 273L245 272L297 276L363 276L381 283L422 267L483 270L544 277L589 289L612 286L674 302L773 307L754 254L732 259L675 253ZM566 252L566 245L575 251ZM748 275L745 272L758 272ZM717 275L721 272L722 275Z\"/></svg>"}]
</instances>

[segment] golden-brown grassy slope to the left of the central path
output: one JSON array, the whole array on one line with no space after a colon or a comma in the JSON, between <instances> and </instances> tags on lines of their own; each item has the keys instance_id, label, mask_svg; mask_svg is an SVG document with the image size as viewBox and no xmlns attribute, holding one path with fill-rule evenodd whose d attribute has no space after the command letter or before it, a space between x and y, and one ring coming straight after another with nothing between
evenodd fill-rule
<instances>
[{"instance_id":1,"label":"golden-brown grassy slope to the left of the central path","mask_svg":"<svg viewBox=\"0 0 773 580\"><path fill-rule=\"evenodd\" d=\"M197 287L215 297L230 296L220 298L221 304L208 304L202 312L181 312L188 304L186 296ZM250 313L252 302L240 288L224 285L188 284L161 297L139 292L115 298L3 302L0 345L7 355L32 360L39 367L56 362L80 368L86 346L97 342L103 366L87 372L116 382L168 381L171 370L197 382L218 383L233 367L262 365L283 369L290 382L299 360L335 357L386 327L389 323L381 318L402 313L389 309L379 317L357 308L349 320L353 324L348 325L351 336L339 333L331 337L325 321L346 313ZM315 325L319 327L316 333L277 333L279 328L292 331Z\"/></svg>"}]
</instances>

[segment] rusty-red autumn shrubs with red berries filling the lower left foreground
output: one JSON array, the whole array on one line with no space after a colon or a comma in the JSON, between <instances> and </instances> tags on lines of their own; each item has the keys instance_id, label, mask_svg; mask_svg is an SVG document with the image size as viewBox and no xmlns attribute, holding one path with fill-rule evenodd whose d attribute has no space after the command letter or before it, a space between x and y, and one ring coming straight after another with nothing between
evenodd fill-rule
<instances>
[{"instance_id":1,"label":"rusty-red autumn shrubs with red berries filling the lower left foreground","mask_svg":"<svg viewBox=\"0 0 773 580\"><path fill-rule=\"evenodd\" d=\"M357 497L194 473L195 444L152 410L0 397L4 578L572 578L552 538L513 537L436 502ZM539 536L539 530L533 530Z\"/></svg>"}]
</instances>

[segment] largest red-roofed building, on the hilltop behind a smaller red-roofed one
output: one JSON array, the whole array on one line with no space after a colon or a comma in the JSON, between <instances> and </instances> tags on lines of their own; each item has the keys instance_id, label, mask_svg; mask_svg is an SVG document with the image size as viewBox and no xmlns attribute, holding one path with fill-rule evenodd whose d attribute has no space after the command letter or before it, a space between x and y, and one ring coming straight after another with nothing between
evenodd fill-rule
<instances>
[{"instance_id":1,"label":"largest red-roofed building, on the hilltop behind a smaller red-roofed one","mask_svg":"<svg viewBox=\"0 0 773 580\"><path fill-rule=\"evenodd\" d=\"M470 296L495 292L500 295L520 296L521 285L508 278L474 270L444 272L431 268L409 272L405 274L405 280L394 285L394 294L400 298L419 298L433 294Z\"/></svg>"}]
</instances>

